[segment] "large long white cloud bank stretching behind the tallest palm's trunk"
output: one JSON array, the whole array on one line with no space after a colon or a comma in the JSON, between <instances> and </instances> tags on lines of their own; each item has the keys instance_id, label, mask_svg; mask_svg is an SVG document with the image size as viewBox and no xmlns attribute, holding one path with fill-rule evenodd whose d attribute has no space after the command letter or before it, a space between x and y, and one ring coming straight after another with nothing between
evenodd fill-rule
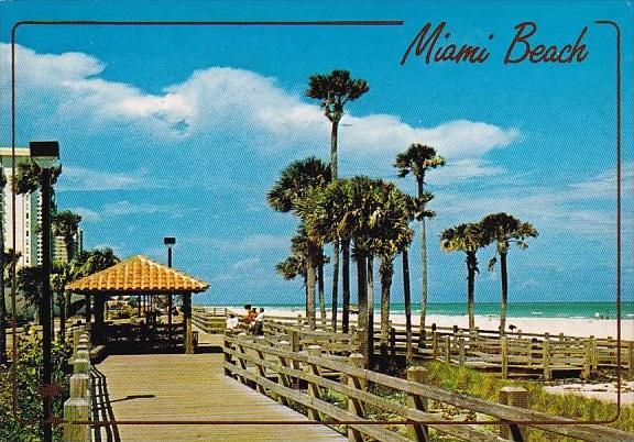
<instances>
[{"instance_id":1,"label":"large long white cloud bank stretching behind the tallest palm's trunk","mask_svg":"<svg viewBox=\"0 0 634 442\"><path fill-rule=\"evenodd\" d=\"M0 44L4 66L9 47ZM264 153L328 144L330 123L317 103L254 71L210 67L154 95L99 78L105 65L87 54L37 54L18 45L15 59L19 109L36 109L44 100L47 109L57 110L55 126L79 123L86 130L111 132L122 125L166 146L190 137L200 146L218 137L237 137ZM0 80L8 88L7 76ZM50 118L50 112L34 115L40 113ZM482 157L520 137L517 129L485 122L456 120L424 128L390 114L346 114L340 131L341 151L352 163L387 158L391 164L413 142L434 145L453 163L450 180L499 173Z\"/></svg>"}]
</instances>

